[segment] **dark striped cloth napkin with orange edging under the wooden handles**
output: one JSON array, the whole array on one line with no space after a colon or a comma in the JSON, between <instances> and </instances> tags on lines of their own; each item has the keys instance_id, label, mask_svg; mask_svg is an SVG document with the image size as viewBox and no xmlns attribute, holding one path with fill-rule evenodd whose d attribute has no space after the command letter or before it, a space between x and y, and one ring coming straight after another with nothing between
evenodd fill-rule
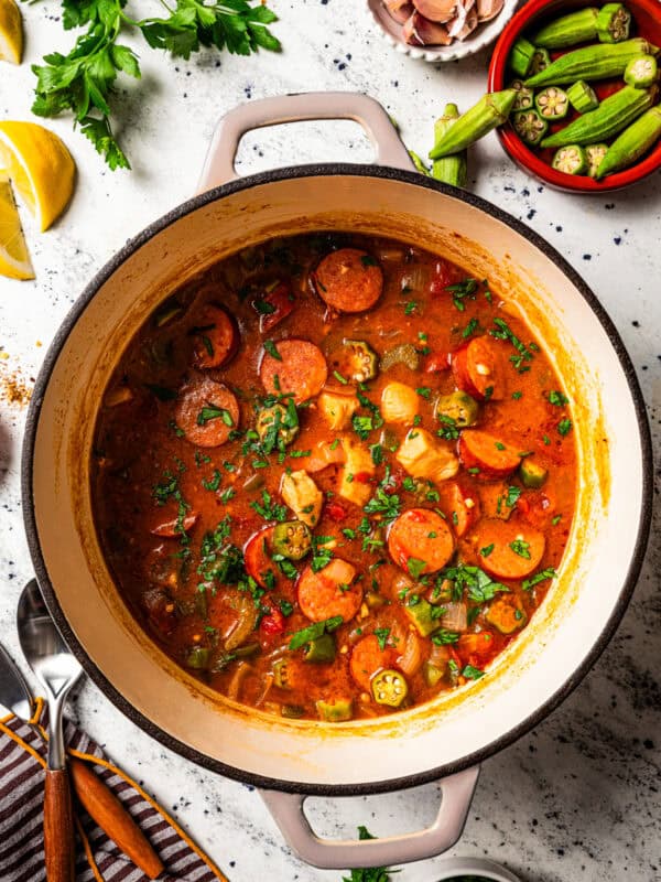
<instances>
[{"instance_id":1,"label":"dark striped cloth napkin with orange edging under the wooden handles","mask_svg":"<svg viewBox=\"0 0 661 882\"><path fill-rule=\"evenodd\" d=\"M45 882L43 798L46 740L43 701L37 699L33 725L13 716L0 719L0 882ZM72 723L65 728L71 754L94 764L94 771L121 799L161 857L161 882L227 882L177 824L134 781L112 765L104 752ZM148 882L91 818L77 806L76 882Z\"/></svg>"}]
</instances>

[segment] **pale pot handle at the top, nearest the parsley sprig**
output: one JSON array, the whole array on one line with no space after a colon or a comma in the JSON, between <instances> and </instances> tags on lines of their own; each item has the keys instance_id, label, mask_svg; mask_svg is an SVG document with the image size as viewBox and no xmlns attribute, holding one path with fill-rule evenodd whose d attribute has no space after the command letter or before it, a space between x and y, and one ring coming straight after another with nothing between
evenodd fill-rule
<instances>
[{"instance_id":1,"label":"pale pot handle at the top, nearest the parsley sprig","mask_svg":"<svg viewBox=\"0 0 661 882\"><path fill-rule=\"evenodd\" d=\"M376 149L379 165L411 170L409 151L400 140L383 107L368 95L353 92L308 92L279 95L240 105L226 114L212 138L197 193L239 178L235 158L246 132L283 122L314 119L353 119L367 132Z\"/></svg>"}]
</instances>

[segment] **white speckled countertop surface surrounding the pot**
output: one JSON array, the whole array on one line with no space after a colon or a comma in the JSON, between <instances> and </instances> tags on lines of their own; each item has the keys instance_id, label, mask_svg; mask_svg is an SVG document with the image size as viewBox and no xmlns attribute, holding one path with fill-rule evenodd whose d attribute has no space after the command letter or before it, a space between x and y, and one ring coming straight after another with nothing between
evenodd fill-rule
<instances>
[{"instance_id":1,"label":"white speckled countertop surface surrounding the pot","mask_svg":"<svg viewBox=\"0 0 661 882\"><path fill-rule=\"evenodd\" d=\"M134 6L147 0L134 0ZM149 3L148 3L149 4ZM464 109L481 94L488 51L434 68L391 51L360 0L274 0L285 51L251 58L201 53L191 62L139 47L143 79L121 80L121 137L131 173L108 171L69 120L52 122L78 164L75 201L55 228L26 220L35 282L0 279L0 381L28 384L50 340L91 276L133 234L189 196L217 118L240 101L308 89L365 92L400 122L420 153L445 100ZM30 64L72 35L55 2L23 6L26 63L0 72L0 118L30 119ZM51 123L48 123L51 125ZM369 161L354 123L305 123L251 135L242 172L306 161ZM633 358L661 452L661 180L625 193L573 197L518 171L490 136L474 150L472 189L524 219L584 276ZM0 402L0 635L14 655L14 610L31 576L19 486L25 411ZM657 486L657 493L659 486ZM530 882L651 882L661 878L661 594L659 519L633 601L593 673L550 719L484 765L456 854L489 856ZM144 779L232 882L330 882L296 861L259 796L182 760L124 719L89 682L75 713L127 771ZM434 787L369 799L310 800L321 832L379 836L413 829L435 810ZM432 882L438 861L407 867L401 882Z\"/></svg>"}]
</instances>

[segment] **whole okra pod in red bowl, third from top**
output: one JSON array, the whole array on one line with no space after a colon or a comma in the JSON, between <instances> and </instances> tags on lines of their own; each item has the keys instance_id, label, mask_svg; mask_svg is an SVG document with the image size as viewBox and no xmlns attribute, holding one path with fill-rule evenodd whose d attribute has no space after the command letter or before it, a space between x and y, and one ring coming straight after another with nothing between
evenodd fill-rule
<instances>
[{"instance_id":1,"label":"whole okra pod in red bowl, third from top","mask_svg":"<svg viewBox=\"0 0 661 882\"><path fill-rule=\"evenodd\" d=\"M542 147L589 144L607 141L639 117L652 104L652 93L625 86L605 98L596 110L584 114L542 141Z\"/></svg>"}]
</instances>

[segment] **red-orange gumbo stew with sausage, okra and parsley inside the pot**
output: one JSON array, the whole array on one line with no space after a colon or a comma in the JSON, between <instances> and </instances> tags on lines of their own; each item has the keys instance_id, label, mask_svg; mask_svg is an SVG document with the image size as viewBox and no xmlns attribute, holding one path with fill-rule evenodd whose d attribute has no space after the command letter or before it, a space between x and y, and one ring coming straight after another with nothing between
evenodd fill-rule
<instances>
[{"instance_id":1,"label":"red-orange gumbo stew with sausage, okra and parsley inside the pot","mask_svg":"<svg viewBox=\"0 0 661 882\"><path fill-rule=\"evenodd\" d=\"M100 540L180 665L343 721L488 674L555 576L570 402L488 281L397 241L250 248L171 297L96 428Z\"/></svg>"}]
</instances>

